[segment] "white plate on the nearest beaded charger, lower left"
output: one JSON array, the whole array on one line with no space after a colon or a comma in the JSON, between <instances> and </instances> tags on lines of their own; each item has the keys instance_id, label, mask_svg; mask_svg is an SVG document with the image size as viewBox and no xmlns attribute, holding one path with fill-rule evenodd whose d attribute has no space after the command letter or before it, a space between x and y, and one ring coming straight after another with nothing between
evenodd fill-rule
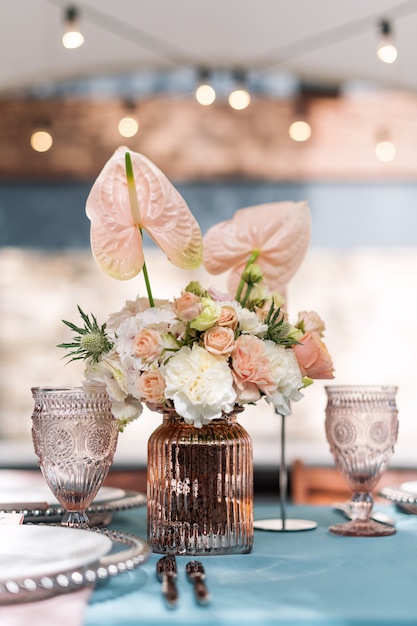
<instances>
[{"instance_id":1,"label":"white plate on the nearest beaded charger, lower left","mask_svg":"<svg viewBox=\"0 0 417 626\"><path fill-rule=\"evenodd\" d=\"M1 526L0 583L87 566L111 549L109 537L87 530L59 526Z\"/></svg>"}]
</instances>

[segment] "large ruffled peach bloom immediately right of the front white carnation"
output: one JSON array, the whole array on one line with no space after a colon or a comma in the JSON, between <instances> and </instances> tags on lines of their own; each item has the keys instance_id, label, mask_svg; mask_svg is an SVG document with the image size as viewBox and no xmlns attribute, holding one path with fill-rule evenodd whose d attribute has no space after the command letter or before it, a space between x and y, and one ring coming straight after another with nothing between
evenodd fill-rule
<instances>
[{"instance_id":1,"label":"large ruffled peach bloom immediately right of the front white carnation","mask_svg":"<svg viewBox=\"0 0 417 626\"><path fill-rule=\"evenodd\" d=\"M237 339L232 354L232 373L241 402L256 402L260 391L272 394L276 389L263 342L253 335L241 335Z\"/></svg>"}]
</instances>

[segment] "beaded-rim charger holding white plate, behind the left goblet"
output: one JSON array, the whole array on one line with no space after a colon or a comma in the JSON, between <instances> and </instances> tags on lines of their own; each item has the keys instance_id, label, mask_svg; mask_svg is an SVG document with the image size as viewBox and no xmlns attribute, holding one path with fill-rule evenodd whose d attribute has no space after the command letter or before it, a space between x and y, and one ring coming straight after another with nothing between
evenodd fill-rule
<instances>
[{"instance_id":1,"label":"beaded-rim charger holding white plate, behind the left goblet","mask_svg":"<svg viewBox=\"0 0 417 626\"><path fill-rule=\"evenodd\" d=\"M101 487L87 509L91 526L105 526L113 513L145 506L146 495L115 487ZM55 523L65 510L55 499L43 476L26 471L0 472L0 513L20 513L25 523Z\"/></svg>"}]
</instances>

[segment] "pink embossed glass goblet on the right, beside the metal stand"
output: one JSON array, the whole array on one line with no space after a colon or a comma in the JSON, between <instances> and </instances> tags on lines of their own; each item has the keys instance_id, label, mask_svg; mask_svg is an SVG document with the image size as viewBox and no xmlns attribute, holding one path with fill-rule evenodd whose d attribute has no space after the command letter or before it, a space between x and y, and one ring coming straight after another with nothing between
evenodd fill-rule
<instances>
[{"instance_id":1,"label":"pink embossed glass goblet on the right, beside the metal stand","mask_svg":"<svg viewBox=\"0 0 417 626\"><path fill-rule=\"evenodd\" d=\"M352 489L352 520L330 526L338 535L380 537L393 526L370 518L372 490L388 466L398 433L397 387L328 386L326 436L337 469Z\"/></svg>"}]
</instances>

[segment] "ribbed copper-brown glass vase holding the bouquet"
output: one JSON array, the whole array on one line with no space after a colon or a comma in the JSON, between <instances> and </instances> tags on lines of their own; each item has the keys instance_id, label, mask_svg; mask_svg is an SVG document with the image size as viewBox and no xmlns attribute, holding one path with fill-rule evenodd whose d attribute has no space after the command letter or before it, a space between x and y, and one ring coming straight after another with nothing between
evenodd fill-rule
<instances>
[{"instance_id":1,"label":"ribbed copper-brown glass vase holding the bouquet","mask_svg":"<svg viewBox=\"0 0 417 626\"><path fill-rule=\"evenodd\" d=\"M175 411L148 442L148 541L164 554L244 554L253 545L252 440L236 419L202 428Z\"/></svg>"}]
</instances>

